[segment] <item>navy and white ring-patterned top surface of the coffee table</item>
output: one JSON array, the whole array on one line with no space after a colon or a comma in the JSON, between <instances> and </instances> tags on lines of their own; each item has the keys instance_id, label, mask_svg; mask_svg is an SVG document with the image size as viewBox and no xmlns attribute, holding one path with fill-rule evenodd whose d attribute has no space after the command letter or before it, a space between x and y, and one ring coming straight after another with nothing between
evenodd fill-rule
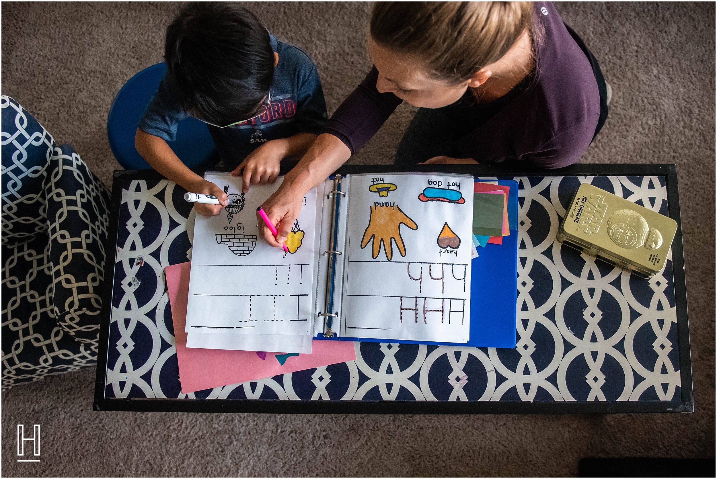
<instances>
[{"instance_id":1,"label":"navy and white ring-patterned top surface of the coffee table","mask_svg":"<svg viewBox=\"0 0 717 479\"><path fill-rule=\"evenodd\" d=\"M163 267L191 255L194 210L163 180L120 182L105 397L408 401L680 398L672 260L650 280L556 242L592 183L668 214L661 176L516 177L515 349L354 343L356 361L182 394ZM491 245L489 245L491 247ZM142 261L137 258L142 257Z\"/></svg>"}]
</instances>

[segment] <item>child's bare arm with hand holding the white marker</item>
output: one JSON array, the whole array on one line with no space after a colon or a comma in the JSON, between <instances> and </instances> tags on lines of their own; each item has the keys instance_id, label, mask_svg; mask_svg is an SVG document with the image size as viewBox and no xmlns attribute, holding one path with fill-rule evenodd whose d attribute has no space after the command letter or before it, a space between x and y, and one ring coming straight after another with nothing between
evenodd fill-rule
<instances>
[{"instance_id":1,"label":"child's bare arm with hand holding the white marker","mask_svg":"<svg viewBox=\"0 0 717 479\"><path fill-rule=\"evenodd\" d=\"M186 191L217 196L220 204L195 203L194 209L196 209L197 213L204 214L204 216L214 216L222 212L222 209L229 204L227 194L222 189L219 189L219 186L211 181L206 181L187 168L162 138L150 135L137 128L135 148L153 169L156 169L156 171L174 181Z\"/></svg>"}]
</instances>

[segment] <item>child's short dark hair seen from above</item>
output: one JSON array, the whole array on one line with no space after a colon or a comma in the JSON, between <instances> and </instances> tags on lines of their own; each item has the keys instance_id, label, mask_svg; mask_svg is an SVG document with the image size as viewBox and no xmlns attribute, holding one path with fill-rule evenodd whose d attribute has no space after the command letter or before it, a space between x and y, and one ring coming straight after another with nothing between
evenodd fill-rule
<instances>
[{"instance_id":1,"label":"child's short dark hair seen from above","mask_svg":"<svg viewBox=\"0 0 717 479\"><path fill-rule=\"evenodd\" d=\"M274 76L269 32L234 3L191 3L167 27L167 74L184 109L224 126L260 108Z\"/></svg>"}]
</instances>

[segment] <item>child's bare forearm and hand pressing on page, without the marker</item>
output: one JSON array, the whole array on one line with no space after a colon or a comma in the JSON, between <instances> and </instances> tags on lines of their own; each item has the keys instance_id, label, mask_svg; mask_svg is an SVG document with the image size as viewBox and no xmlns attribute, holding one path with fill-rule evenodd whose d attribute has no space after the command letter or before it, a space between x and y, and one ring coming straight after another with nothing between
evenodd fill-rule
<instances>
[{"instance_id":1,"label":"child's bare forearm and hand pressing on page, without the marker","mask_svg":"<svg viewBox=\"0 0 717 479\"><path fill-rule=\"evenodd\" d=\"M313 133L296 133L288 138L267 141L232 171L242 176L242 191L249 192L250 184L274 183L279 176L279 162L285 158L301 158L316 139ZM242 173L242 169L244 172ZM201 193L201 191L197 191Z\"/></svg>"}]
</instances>

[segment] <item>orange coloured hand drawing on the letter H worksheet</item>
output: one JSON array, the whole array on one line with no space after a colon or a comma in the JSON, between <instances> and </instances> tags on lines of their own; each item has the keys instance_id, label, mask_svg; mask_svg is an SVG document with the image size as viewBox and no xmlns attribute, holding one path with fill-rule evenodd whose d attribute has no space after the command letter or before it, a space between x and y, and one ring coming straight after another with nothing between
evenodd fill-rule
<instances>
[{"instance_id":1,"label":"orange coloured hand drawing on the letter H worksheet","mask_svg":"<svg viewBox=\"0 0 717 479\"><path fill-rule=\"evenodd\" d=\"M396 246L399 247L401 256L406 256L406 247L401 238L399 228L401 224L405 224L411 229L418 229L417 224L407 217L397 204L393 206L372 206L369 209L371 210L371 219L369 219L369 226L366 227L366 232L364 232L364 239L361 240L361 248L365 248L369 241L373 239L373 256L375 260L381 251L381 243L383 243L386 259L391 261L391 239L393 239L396 242Z\"/></svg>"}]
</instances>

